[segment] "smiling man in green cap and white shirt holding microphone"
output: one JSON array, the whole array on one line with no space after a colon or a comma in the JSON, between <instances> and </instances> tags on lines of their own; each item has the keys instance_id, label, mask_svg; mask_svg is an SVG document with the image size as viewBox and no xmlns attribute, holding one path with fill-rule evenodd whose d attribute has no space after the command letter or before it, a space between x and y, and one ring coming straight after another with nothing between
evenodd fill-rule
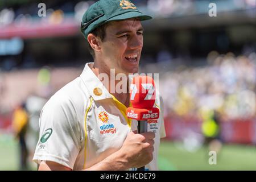
<instances>
[{"instance_id":1,"label":"smiling man in green cap and white shirt holding microphone","mask_svg":"<svg viewBox=\"0 0 256 182\"><path fill-rule=\"evenodd\" d=\"M151 19L130 1L101 0L82 17L81 31L94 63L47 102L40 116L40 139L34 161L39 170L156 170L163 113L155 133L137 134L137 122L126 117L129 92L111 93L98 78L138 72L143 47L141 20ZM115 85L118 81L114 82ZM127 91L127 89L126 89ZM159 96L156 106L163 109Z\"/></svg>"}]
</instances>

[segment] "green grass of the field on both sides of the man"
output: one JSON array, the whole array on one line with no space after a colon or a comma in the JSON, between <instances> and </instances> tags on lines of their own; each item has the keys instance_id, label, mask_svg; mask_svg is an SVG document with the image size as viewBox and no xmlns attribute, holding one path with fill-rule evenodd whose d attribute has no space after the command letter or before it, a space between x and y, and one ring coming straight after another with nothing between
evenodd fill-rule
<instances>
[{"instance_id":1,"label":"green grass of the field on both sides of the man","mask_svg":"<svg viewBox=\"0 0 256 182\"><path fill-rule=\"evenodd\" d=\"M18 142L10 135L0 135L0 170L18 170ZM256 170L256 147L228 145L217 154L217 164L208 163L208 148L201 147L196 152L184 150L181 143L163 140L159 148L160 170ZM30 169L36 164L30 156Z\"/></svg>"}]
</instances>

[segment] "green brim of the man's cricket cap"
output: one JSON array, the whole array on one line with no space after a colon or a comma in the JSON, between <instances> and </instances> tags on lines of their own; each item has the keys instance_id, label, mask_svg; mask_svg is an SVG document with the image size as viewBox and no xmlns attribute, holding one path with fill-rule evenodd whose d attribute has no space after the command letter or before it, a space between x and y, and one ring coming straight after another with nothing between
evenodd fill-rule
<instances>
[{"instance_id":1,"label":"green brim of the man's cricket cap","mask_svg":"<svg viewBox=\"0 0 256 182\"><path fill-rule=\"evenodd\" d=\"M138 11L129 11L127 13L114 16L114 17L106 20L106 22L114 21L114 20L130 19L130 18L139 18L141 21L152 19L151 16L140 13Z\"/></svg>"}]
</instances>

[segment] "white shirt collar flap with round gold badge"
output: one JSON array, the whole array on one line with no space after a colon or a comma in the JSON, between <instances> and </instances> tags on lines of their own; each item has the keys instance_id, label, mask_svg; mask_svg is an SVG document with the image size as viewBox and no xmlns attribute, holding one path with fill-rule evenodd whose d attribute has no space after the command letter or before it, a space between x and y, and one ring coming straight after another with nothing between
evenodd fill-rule
<instances>
[{"instance_id":1,"label":"white shirt collar flap with round gold badge","mask_svg":"<svg viewBox=\"0 0 256 182\"><path fill-rule=\"evenodd\" d=\"M94 63L86 63L80 77L86 87L89 89L89 93L93 100L97 101L104 100L106 98L113 98L109 91L105 88L104 84L102 84L92 69L90 69L89 64Z\"/></svg>"}]
</instances>

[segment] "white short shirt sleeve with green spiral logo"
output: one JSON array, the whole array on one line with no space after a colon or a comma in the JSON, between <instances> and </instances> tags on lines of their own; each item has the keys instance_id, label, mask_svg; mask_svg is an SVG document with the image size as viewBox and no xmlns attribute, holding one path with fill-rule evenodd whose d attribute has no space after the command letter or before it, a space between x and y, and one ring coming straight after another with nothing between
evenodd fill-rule
<instances>
[{"instance_id":1,"label":"white short shirt sleeve with green spiral logo","mask_svg":"<svg viewBox=\"0 0 256 182\"><path fill-rule=\"evenodd\" d=\"M52 161L73 169L81 147L75 107L64 94L51 97L39 119L40 134L34 162Z\"/></svg>"}]
</instances>

